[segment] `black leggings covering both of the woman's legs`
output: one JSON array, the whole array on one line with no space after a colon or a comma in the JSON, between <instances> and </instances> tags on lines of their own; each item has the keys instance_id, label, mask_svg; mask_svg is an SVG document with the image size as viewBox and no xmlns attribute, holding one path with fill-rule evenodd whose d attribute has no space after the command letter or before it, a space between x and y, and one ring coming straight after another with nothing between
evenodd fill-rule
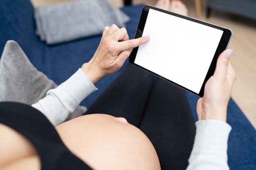
<instances>
[{"instance_id":1,"label":"black leggings covering both of the woman's legs","mask_svg":"<svg viewBox=\"0 0 256 170\"><path fill-rule=\"evenodd\" d=\"M188 166L195 121L185 91L135 66L128 66L85 114L125 117L153 143L162 170Z\"/></svg>"}]
</instances>

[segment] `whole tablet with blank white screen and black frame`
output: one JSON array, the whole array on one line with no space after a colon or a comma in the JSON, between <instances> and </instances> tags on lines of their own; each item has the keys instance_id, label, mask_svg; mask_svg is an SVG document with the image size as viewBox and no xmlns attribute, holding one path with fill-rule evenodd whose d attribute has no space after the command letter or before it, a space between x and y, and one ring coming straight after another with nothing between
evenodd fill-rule
<instances>
[{"instance_id":1,"label":"whole tablet with blank white screen and black frame","mask_svg":"<svg viewBox=\"0 0 256 170\"><path fill-rule=\"evenodd\" d=\"M129 62L202 97L232 31L145 5L135 38L145 35L150 40L132 50Z\"/></svg>"}]
</instances>

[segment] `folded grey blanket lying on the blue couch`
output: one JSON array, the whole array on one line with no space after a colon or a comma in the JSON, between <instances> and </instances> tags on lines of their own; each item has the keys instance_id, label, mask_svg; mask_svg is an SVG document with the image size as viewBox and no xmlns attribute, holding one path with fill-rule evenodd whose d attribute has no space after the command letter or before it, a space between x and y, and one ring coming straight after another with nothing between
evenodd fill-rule
<instances>
[{"instance_id":1,"label":"folded grey blanket lying on the blue couch","mask_svg":"<svg viewBox=\"0 0 256 170\"><path fill-rule=\"evenodd\" d=\"M108 0L75 0L34 9L36 34L47 44L101 35L105 26L125 27L130 18Z\"/></svg>"}]
</instances>

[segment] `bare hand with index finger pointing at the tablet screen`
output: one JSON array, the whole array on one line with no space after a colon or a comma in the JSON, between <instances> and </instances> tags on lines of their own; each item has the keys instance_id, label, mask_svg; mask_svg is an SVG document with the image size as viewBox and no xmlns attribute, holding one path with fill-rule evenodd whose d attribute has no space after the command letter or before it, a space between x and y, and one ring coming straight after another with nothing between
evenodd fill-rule
<instances>
[{"instance_id":1,"label":"bare hand with index finger pointing at the tablet screen","mask_svg":"<svg viewBox=\"0 0 256 170\"><path fill-rule=\"evenodd\" d=\"M95 83L101 77L118 71L132 49L148 40L149 36L129 40L125 28L119 29L115 24L106 26L94 56L88 63L83 64L81 69L90 81Z\"/></svg>"}]
</instances>

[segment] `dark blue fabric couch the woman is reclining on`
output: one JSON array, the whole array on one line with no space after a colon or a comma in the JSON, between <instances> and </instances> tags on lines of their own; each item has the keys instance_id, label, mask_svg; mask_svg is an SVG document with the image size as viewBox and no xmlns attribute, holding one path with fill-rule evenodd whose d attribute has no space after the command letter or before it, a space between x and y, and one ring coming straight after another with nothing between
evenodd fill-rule
<instances>
[{"instance_id":1,"label":"dark blue fabric couch the woman is reclining on","mask_svg":"<svg viewBox=\"0 0 256 170\"><path fill-rule=\"evenodd\" d=\"M135 35L141 9L142 5L122 8L131 18L127 23L130 38ZM0 0L0 51L2 52L7 40L15 40L31 63L56 84L64 82L81 64L90 60L100 39L101 35L49 46L35 34L33 7L29 0ZM127 66L126 61L117 73L107 75L97 82L99 90L87 97L81 105L89 107ZM197 120L195 106L198 97L191 93L187 93L187 97ZM228 106L227 121L232 126L228 141L230 169L256 169L256 130L232 99Z\"/></svg>"}]
</instances>

